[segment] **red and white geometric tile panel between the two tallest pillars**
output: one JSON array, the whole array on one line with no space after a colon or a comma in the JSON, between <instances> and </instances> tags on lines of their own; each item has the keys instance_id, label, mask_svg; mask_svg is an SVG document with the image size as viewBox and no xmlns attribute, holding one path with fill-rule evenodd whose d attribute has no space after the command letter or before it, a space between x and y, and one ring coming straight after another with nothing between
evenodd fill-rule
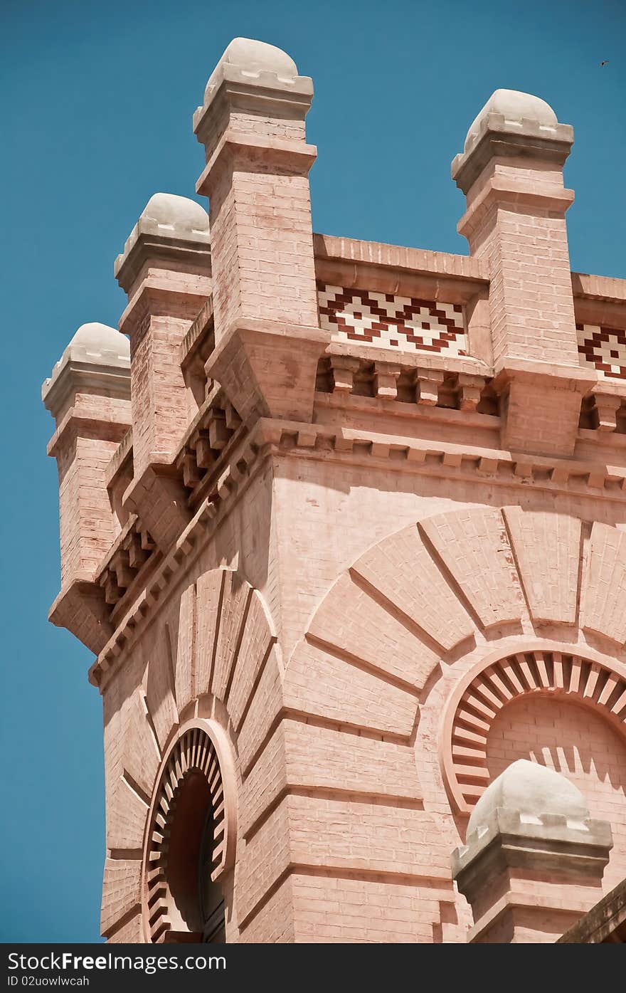
<instances>
[{"instance_id":1,"label":"red and white geometric tile panel between the two tallest pillars","mask_svg":"<svg viewBox=\"0 0 626 993\"><path fill-rule=\"evenodd\" d=\"M339 338L403 352L467 355L460 304L326 283L317 283L317 301L321 327Z\"/></svg>"}]
</instances>

